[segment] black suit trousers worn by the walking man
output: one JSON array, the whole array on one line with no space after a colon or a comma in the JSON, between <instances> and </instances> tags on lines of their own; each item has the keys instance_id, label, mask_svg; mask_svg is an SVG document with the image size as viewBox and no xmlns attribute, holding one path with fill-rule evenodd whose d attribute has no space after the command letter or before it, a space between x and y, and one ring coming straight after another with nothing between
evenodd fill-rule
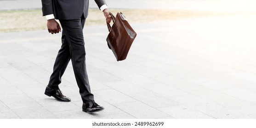
<instances>
[{"instance_id":1,"label":"black suit trousers worn by the walking man","mask_svg":"<svg viewBox=\"0 0 256 128\"><path fill-rule=\"evenodd\" d=\"M58 85L61 83L61 77L71 59L75 79L83 102L94 100L85 65L85 42L83 35L85 18L82 16L76 20L59 21L63 28L62 46L57 54L48 86L52 89L59 89Z\"/></svg>"}]
</instances>

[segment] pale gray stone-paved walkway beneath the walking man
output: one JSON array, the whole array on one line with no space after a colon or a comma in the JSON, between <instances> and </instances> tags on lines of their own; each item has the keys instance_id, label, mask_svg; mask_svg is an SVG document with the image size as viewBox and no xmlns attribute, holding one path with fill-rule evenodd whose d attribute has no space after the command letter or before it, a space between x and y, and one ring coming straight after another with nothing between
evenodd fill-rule
<instances>
[{"instance_id":1,"label":"pale gray stone-paved walkway beneath the walking man","mask_svg":"<svg viewBox=\"0 0 256 128\"><path fill-rule=\"evenodd\" d=\"M117 62L107 27L85 27L92 92L106 109L81 111L69 64L60 85L72 101L44 95L61 34L0 34L0 118L256 118L255 16L132 24Z\"/></svg>"}]
</instances>

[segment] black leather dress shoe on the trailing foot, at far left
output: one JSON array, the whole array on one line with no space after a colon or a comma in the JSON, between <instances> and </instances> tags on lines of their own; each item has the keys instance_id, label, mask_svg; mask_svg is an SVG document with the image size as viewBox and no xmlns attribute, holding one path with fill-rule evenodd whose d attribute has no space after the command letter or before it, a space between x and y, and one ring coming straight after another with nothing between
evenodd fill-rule
<instances>
[{"instance_id":1,"label":"black leather dress shoe on the trailing foot, at far left","mask_svg":"<svg viewBox=\"0 0 256 128\"><path fill-rule=\"evenodd\" d=\"M64 96L59 89L53 90L53 89L49 88L48 86L46 86L45 94L47 96L54 97L57 101L62 101L62 102L70 102L71 101L70 98Z\"/></svg>"}]
</instances>

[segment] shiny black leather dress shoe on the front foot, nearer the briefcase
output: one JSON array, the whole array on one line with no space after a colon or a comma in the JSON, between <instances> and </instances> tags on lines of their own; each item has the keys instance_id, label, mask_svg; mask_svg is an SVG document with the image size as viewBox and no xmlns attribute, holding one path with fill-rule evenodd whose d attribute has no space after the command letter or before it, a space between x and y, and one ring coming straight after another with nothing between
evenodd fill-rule
<instances>
[{"instance_id":1,"label":"shiny black leather dress shoe on the front foot, nearer the briefcase","mask_svg":"<svg viewBox=\"0 0 256 128\"><path fill-rule=\"evenodd\" d=\"M99 106L95 101L89 101L83 103L82 109L83 112L94 113L104 110L104 107Z\"/></svg>"}]
</instances>

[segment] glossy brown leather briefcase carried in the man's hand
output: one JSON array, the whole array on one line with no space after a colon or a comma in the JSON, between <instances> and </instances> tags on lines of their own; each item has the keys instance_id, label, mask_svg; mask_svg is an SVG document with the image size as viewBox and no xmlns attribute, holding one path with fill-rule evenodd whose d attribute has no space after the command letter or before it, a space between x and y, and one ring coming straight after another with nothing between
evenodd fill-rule
<instances>
[{"instance_id":1,"label":"glossy brown leather briefcase carried in the man's hand","mask_svg":"<svg viewBox=\"0 0 256 128\"><path fill-rule=\"evenodd\" d=\"M137 33L132 29L128 21L122 12L117 13L116 17L112 13L110 13L113 20L112 27L109 23L108 26L108 48L110 48L116 60L124 60L131 48L131 44L133 43Z\"/></svg>"}]
</instances>

